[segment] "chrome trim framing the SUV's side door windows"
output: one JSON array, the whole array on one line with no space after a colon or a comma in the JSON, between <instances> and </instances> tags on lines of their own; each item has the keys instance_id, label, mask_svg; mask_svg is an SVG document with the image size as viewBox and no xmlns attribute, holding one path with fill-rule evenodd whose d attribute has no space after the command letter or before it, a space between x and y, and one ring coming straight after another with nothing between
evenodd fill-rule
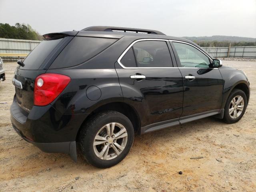
<instances>
[{"instance_id":1,"label":"chrome trim framing the SUV's side door windows","mask_svg":"<svg viewBox=\"0 0 256 192\"><path fill-rule=\"evenodd\" d=\"M134 42L132 42L127 48L126 50L124 50L124 52L120 55L120 57L118 58L117 62L118 64L124 68L124 69L178 69L178 68L183 68L183 69L206 69L205 67L126 67L121 63L121 59L123 58L123 56L126 54L126 52L137 42L140 41L165 41L165 42L180 42L180 43L184 43L184 44L188 44L193 46L194 48L198 49L196 46L187 43L187 42L183 42L183 41L176 41L176 40L170 40L170 39L138 39L135 40ZM203 54L205 54L210 60L212 60L206 53L204 53L202 50L198 49L199 51L201 51ZM136 58L135 58L136 59ZM218 68L211 68L211 69L218 69Z\"/></svg>"}]
</instances>

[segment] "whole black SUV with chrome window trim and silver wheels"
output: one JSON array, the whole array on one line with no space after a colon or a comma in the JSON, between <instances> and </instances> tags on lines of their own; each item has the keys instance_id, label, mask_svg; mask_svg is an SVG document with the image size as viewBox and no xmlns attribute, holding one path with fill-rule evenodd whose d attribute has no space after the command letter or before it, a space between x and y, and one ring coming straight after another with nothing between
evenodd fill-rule
<instances>
[{"instance_id":1,"label":"whole black SUV with chrome window trim and silver wheels","mask_svg":"<svg viewBox=\"0 0 256 192\"><path fill-rule=\"evenodd\" d=\"M95 26L46 34L18 64L14 130L75 161L77 143L100 168L128 154L134 133L208 116L234 123L250 97L244 72L154 30Z\"/></svg>"}]
</instances>

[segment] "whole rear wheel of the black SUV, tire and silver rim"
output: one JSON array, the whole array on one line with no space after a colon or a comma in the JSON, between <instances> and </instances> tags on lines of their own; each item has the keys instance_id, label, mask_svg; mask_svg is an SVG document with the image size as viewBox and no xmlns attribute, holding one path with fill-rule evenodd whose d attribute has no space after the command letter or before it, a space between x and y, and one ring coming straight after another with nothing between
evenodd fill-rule
<instances>
[{"instance_id":1,"label":"whole rear wheel of the black SUV, tire and silver rim","mask_svg":"<svg viewBox=\"0 0 256 192\"><path fill-rule=\"evenodd\" d=\"M134 140L132 122L116 111L96 114L79 135L79 147L84 158L93 166L108 168L122 161Z\"/></svg>"}]
</instances>

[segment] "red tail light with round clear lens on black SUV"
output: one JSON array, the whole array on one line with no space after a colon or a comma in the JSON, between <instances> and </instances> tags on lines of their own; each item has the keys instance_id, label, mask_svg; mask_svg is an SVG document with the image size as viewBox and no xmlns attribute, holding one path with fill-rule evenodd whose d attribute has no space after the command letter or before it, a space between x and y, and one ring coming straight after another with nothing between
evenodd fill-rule
<instances>
[{"instance_id":1,"label":"red tail light with round clear lens on black SUV","mask_svg":"<svg viewBox=\"0 0 256 192\"><path fill-rule=\"evenodd\" d=\"M34 105L50 104L66 88L70 77L55 73L46 73L36 77L34 87Z\"/></svg>"}]
</instances>

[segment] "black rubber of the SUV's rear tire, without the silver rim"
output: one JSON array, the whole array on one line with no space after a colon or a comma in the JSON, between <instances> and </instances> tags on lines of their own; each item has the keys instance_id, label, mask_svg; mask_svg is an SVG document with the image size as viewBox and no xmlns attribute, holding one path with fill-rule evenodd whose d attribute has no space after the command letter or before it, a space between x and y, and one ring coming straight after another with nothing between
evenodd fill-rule
<instances>
[{"instance_id":1,"label":"black rubber of the SUV's rear tire, without the silver rim","mask_svg":"<svg viewBox=\"0 0 256 192\"><path fill-rule=\"evenodd\" d=\"M120 123L126 128L128 140L120 155L112 160L102 160L96 156L93 149L93 142L100 128L111 122ZM82 130L80 133L80 150L86 160L98 168L107 168L118 164L126 157L134 141L134 128L132 122L124 114L115 111L103 112L94 116L87 124L85 124L83 129L86 129L86 131Z\"/></svg>"}]
</instances>

